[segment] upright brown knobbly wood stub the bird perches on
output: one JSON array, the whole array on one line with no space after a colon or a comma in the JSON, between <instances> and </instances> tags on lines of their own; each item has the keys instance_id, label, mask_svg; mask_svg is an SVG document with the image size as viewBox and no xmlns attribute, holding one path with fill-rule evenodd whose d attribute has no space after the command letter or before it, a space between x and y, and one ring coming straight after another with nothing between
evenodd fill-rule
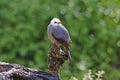
<instances>
[{"instance_id":1,"label":"upright brown knobbly wood stub the bird perches on","mask_svg":"<svg viewBox=\"0 0 120 80\"><path fill-rule=\"evenodd\" d=\"M48 53L48 70L52 74L59 74L60 66L68 59L68 55L60 48L51 47Z\"/></svg>"}]
</instances>

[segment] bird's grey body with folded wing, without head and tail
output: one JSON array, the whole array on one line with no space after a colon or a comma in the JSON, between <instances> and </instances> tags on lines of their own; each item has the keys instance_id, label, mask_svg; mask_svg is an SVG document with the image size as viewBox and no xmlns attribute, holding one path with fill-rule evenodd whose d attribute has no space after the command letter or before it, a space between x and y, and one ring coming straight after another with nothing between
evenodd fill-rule
<instances>
[{"instance_id":1,"label":"bird's grey body with folded wing, without head and tail","mask_svg":"<svg viewBox=\"0 0 120 80\"><path fill-rule=\"evenodd\" d=\"M67 29L60 26L53 26L51 24L48 25L48 36L49 39L55 44L62 44L65 46L69 46L71 39Z\"/></svg>"}]
</instances>

